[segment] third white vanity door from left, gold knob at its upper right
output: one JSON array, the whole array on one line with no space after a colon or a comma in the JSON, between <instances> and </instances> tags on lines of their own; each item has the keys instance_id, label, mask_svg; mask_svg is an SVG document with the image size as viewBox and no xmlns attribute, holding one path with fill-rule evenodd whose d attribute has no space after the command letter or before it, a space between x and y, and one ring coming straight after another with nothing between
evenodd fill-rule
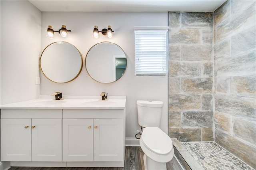
<instances>
[{"instance_id":1,"label":"third white vanity door from left, gold knob at its upper right","mask_svg":"<svg viewBox=\"0 0 256 170\"><path fill-rule=\"evenodd\" d=\"M63 119L62 123L63 161L92 161L93 120Z\"/></svg>"}]
</instances>

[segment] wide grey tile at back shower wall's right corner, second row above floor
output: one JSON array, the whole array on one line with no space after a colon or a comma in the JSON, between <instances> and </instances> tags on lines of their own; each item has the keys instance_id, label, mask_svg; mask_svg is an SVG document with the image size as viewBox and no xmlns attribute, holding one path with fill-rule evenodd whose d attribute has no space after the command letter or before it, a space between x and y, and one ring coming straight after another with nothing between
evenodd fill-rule
<instances>
[{"instance_id":1,"label":"wide grey tile at back shower wall's right corner, second row above floor","mask_svg":"<svg viewBox=\"0 0 256 170\"><path fill-rule=\"evenodd\" d=\"M182 127L212 127L213 111L182 112Z\"/></svg>"}]
</instances>

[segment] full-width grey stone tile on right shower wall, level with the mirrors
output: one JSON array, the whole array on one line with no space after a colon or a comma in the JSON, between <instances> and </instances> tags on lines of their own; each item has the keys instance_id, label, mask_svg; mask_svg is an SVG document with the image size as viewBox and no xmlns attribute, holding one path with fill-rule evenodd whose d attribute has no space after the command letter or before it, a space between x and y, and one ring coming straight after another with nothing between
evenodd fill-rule
<instances>
[{"instance_id":1,"label":"full-width grey stone tile on right shower wall, level with the mirrors","mask_svg":"<svg viewBox=\"0 0 256 170\"><path fill-rule=\"evenodd\" d=\"M256 50L214 62L214 75L218 77L234 75L254 75L256 70Z\"/></svg>"}]
</instances>

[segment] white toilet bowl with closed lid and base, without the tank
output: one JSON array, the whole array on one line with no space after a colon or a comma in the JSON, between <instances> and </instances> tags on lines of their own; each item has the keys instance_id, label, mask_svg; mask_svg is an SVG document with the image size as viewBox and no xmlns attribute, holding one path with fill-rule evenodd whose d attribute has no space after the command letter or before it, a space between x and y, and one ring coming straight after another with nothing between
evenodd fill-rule
<instances>
[{"instance_id":1,"label":"white toilet bowl with closed lid and base, without the tank","mask_svg":"<svg viewBox=\"0 0 256 170\"><path fill-rule=\"evenodd\" d=\"M158 127L143 129L140 147L144 152L145 170L166 170L166 162L174 156L172 140Z\"/></svg>"}]
</instances>

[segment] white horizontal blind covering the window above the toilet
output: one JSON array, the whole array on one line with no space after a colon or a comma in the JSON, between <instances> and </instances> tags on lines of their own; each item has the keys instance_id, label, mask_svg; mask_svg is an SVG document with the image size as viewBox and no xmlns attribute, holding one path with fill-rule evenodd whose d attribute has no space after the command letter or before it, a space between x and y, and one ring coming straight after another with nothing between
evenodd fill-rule
<instances>
[{"instance_id":1,"label":"white horizontal blind covering the window above the toilet","mask_svg":"<svg viewBox=\"0 0 256 170\"><path fill-rule=\"evenodd\" d=\"M134 32L136 75L166 75L168 27L136 27Z\"/></svg>"}]
</instances>

